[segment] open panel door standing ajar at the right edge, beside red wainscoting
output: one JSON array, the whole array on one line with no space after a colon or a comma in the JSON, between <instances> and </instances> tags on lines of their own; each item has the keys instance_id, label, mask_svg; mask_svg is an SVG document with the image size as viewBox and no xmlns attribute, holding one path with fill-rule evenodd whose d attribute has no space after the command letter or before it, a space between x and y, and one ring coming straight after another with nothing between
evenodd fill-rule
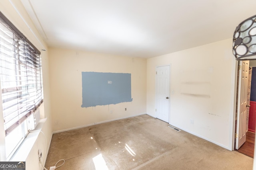
<instances>
[{"instance_id":1,"label":"open panel door standing ajar at the right edge, beside red wainscoting","mask_svg":"<svg viewBox=\"0 0 256 170\"><path fill-rule=\"evenodd\" d=\"M246 141L246 105L249 76L249 61L240 61L238 76L237 122L236 122L236 149Z\"/></svg>"}]
</instances>

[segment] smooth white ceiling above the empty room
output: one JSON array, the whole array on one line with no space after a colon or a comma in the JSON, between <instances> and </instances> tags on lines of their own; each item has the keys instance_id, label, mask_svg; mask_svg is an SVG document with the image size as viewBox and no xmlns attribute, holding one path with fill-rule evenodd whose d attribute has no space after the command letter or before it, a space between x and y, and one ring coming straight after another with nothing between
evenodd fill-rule
<instances>
[{"instance_id":1,"label":"smooth white ceiling above the empty room","mask_svg":"<svg viewBox=\"0 0 256 170\"><path fill-rule=\"evenodd\" d=\"M256 0L22 3L49 47L145 58L232 38L236 26L256 14Z\"/></svg>"}]
</instances>

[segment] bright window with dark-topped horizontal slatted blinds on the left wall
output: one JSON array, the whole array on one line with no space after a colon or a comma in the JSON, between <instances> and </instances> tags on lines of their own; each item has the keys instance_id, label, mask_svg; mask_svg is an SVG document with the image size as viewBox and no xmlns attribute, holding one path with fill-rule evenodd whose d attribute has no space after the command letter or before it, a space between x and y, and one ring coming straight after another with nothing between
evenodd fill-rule
<instances>
[{"instance_id":1,"label":"bright window with dark-topped horizontal slatted blinds on the left wall","mask_svg":"<svg viewBox=\"0 0 256 170\"><path fill-rule=\"evenodd\" d=\"M10 157L28 133L26 119L42 103L41 84L40 52L0 12L0 87L6 156Z\"/></svg>"}]
</instances>

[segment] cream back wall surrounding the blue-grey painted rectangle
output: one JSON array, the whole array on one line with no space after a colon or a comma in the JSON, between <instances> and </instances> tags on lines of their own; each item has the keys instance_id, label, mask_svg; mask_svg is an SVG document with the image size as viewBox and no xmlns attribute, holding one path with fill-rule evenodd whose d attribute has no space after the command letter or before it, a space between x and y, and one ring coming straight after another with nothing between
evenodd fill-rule
<instances>
[{"instance_id":1,"label":"cream back wall surrounding the blue-grey painted rectangle","mask_svg":"<svg viewBox=\"0 0 256 170\"><path fill-rule=\"evenodd\" d=\"M58 48L49 55L53 131L146 113L146 59ZM81 107L82 72L130 73L132 102Z\"/></svg>"}]
</instances>

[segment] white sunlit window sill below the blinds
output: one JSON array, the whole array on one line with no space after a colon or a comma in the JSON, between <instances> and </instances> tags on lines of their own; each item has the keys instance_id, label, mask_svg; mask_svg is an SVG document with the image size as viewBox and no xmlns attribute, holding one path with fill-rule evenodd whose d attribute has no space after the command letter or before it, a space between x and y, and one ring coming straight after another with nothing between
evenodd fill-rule
<instances>
[{"instance_id":1,"label":"white sunlit window sill below the blinds","mask_svg":"<svg viewBox=\"0 0 256 170\"><path fill-rule=\"evenodd\" d=\"M44 123L47 118L40 119L38 125L34 129L35 132L28 133L27 137L24 139L24 141L20 144L18 149L15 151L15 153L12 155L12 157L8 161L26 161L26 158L28 157L28 154L30 153L30 150L36 143L36 139L38 138L38 135L40 131L42 130L42 127L44 126Z\"/></svg>"}]
</instances>

